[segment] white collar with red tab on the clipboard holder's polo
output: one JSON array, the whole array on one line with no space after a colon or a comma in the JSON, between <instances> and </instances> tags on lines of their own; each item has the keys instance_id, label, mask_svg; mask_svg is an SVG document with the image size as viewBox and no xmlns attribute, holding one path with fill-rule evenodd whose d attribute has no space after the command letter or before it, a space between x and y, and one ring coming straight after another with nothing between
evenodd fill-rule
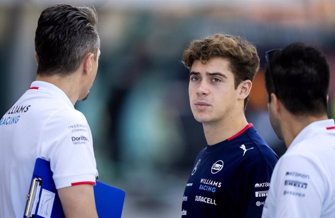
<instances>
[{"instance_id":1,"label":"white collar with red tab on the clipboard holder's polo","mask_svg":"<svg viewBox=\"0 0 335 218\"><path fill-rule=\"evenodd\" d=\"M66 102L71 108L74 108L72 102L67 97L67 95L65 94L65 92L62 89L58 88L54 84L50 84L50 83L44 82L44 81L34 81L31 84L30 87L33 88L33 89L38 89L38 90L41 90L41 91L50 92L51 94L56 95L62 101Z\"/></svg>"}]
</instances>

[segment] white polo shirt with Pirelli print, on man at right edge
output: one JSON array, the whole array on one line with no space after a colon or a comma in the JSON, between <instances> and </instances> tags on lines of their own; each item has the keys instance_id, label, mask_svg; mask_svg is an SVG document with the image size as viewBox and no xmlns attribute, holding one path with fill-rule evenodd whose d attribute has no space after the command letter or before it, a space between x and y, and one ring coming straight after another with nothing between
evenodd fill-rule
<instances>
[{"instance_id":1,"label":"white polo shirt with Pirelli print, on man at right edge","mask_svg":"<svg viewBox=\"0 0 335 218\"><path fill-rule=\"evenodd\" d=\"M279 159L262 218L335 218L334 119L306 126Z\"/></svg>"}]
</instances>

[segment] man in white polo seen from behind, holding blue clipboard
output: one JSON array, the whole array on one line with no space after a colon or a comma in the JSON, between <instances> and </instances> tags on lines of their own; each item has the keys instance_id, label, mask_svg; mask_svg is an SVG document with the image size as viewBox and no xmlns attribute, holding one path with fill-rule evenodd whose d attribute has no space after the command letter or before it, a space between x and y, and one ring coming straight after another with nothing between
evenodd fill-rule
<instances>
[{"instance_id":1,"label":"man in white polo seen from behind, holding blue clipboard","mask_svg":"<svg viewBox=\"0 0 335 218\"><path fill-rule=\"evenodd\" d=\"M92 134L75 110L100 56L97 12L55 5L38 19L37 78L0 119L0 218L22 218L36 158L50 161L67 218L97 218Z\"/></svg>"}]
</instances>

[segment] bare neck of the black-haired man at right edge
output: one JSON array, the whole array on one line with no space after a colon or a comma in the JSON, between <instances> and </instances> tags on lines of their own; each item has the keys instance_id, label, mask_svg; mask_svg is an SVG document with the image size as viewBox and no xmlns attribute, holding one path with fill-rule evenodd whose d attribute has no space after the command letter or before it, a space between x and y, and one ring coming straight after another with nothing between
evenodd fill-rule
<instances>
[{"instance_id":1,"label":"bare neck of the black-haired man at right edge","mask_svg":"<svg viewBox=\"0 0 335 218\"><path fill-rule=\"evenodd\" d=\"M294 116L290 113L287 113L286 118L282 118L283 124L281 125L283 140L286 147L288 148L292 141L297 137L297 135L304 129L306 126L312 122L328 119L327 114L320 116Z\"/></svg>"}]
</instances>

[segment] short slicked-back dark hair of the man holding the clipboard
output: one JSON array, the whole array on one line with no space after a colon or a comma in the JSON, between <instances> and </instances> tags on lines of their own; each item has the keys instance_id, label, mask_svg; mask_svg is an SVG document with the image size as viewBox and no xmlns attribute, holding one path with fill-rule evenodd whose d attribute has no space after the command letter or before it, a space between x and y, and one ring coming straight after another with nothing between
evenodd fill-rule
<instances>
[{"instance_id":1,"label":"short slicked-back dark hair of the man holding the clipboard","mask_svg":"<svg viewBox=\"0 0 335 218\"><path fill-rule=\"evenodd\" d=\"M88 52L97 58L100 48L97 22L94 7L59 4L45 9L35 33L37 74L68 75L80 66Z\"/></svg>"}]
</instances>

